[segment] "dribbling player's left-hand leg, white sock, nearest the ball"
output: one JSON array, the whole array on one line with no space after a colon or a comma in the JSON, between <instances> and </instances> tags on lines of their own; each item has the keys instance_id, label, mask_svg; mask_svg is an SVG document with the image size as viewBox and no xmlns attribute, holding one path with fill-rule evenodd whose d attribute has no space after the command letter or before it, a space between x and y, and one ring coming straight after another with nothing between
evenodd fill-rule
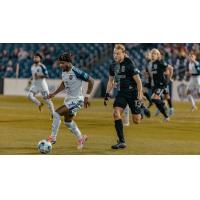
<instances>
[{"instance_id":1,"label":"dribbling player's left-hand leg, white sock, nearest the ball","mask_svg":"<svg viewBox=\"0 0 200 200\"><path fill-rule=\"evenodd\" d=\"M66 113L68 113L68 111L68 108L63 105L56 109L56 111L53 113L52 132L51 136L48 137L48 141L50 141L52 144L56 143L56 137L58 135L58 129L61 123L61 116L64 116Z\"/></svg>"}]
</instances>

